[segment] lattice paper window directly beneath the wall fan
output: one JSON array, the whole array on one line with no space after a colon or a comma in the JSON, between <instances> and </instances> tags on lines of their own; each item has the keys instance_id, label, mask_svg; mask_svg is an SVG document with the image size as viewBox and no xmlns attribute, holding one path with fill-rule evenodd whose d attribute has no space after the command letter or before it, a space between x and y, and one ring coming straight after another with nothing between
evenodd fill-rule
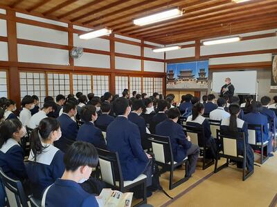
<instances>
[{"instance_id":1,"label":"lattice paper window directly beneath the wall fan","mask_svg":"<svg viewBox=\"0 0 277 207\"><path fill-rule=\"evenodd\" d=\"M82 92L84 95L88 95L91 90L91 75L76 75L73 74L73 94Z\"/></svg>"}]
</instances>

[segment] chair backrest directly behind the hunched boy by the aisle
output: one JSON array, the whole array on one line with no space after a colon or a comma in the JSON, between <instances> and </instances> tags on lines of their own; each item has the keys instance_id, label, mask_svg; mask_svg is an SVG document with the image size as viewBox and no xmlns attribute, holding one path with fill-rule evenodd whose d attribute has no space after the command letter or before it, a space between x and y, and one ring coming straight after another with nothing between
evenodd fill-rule
<instances>
[{"instance_id":1,"label":"chair backrest directly behind the hunched boy by the aisle","mask_svg":"<svg viewBox=\"0 0 277 207\"><path fill-rule=\"evenodd\" d=\"M155 161L162 164L173 164L173 154L170 143L170 137L146 134L146 139L151 142L152 150L155 155Z\"/></svg>"}]
</instances>

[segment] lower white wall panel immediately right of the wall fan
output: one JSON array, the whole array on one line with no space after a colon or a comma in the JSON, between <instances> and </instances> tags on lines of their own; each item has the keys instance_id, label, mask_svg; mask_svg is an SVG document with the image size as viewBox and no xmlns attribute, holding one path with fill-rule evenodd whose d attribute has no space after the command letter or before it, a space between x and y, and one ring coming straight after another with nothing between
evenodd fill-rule
<instances>
[{"instance_id":1,"label":"lower white wall panel immediately right of the wall fan","mask_svg":"<svg viewBox=\"0 0 277 207\"><path fill-rule=\"evenodd\" d=\"M93 68L110 68L109 55L84 52L82 57L74 59L74 65Z\"/></svg>"}]
</instances>

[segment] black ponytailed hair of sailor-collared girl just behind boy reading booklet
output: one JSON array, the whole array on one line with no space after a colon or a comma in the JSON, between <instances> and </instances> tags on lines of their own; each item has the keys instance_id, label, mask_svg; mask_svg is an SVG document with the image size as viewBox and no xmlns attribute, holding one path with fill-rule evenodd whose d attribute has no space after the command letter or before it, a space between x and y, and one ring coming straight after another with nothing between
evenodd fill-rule
<instances>
[{"instance_id":1,"label":"black ponytailed hair of sailor-collared girl just behind boy reading booklet","mask_svg":"<svg viewBox=\"0 0 277 207\"><path fill-rule=\"evenodd\" d=\"M47 117L39 122L37 128L33 129L30 134L30 149L33 151L35 161L37 161L37 155L41 154L44 148L46 148L42 146L42 141L47 140L51 132L58 130L59 128L60 123L57 119ZM42 139L42 141L40 139Z\"/></svg>"}]
</instances>

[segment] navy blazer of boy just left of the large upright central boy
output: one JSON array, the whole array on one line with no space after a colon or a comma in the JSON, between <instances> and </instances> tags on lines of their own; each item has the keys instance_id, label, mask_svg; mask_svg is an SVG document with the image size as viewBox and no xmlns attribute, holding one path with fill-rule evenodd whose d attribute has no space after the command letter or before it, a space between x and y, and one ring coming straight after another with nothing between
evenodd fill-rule
<instances>
[{"instance_id":1,"label":"navy blazer of boy just left of the large upright central boy","mask_svg":"<svg viewBox=\"0 0 277 207\"><path fill-rule=\"evenodd\" d=\"M91 122L82 124L77 135L78 141L87 141L96 148L106 149L105 139L102 135L102 131L94 126Z\"/></svg>"}]
</instances>

